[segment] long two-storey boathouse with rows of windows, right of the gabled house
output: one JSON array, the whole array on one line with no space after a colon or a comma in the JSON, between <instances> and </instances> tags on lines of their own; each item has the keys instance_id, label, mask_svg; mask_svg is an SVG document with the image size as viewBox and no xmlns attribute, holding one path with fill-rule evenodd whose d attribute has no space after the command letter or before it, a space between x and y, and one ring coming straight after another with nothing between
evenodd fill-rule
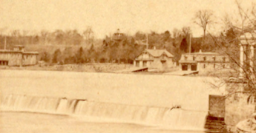
<instances>
[{"instance_id":1,"label":"long two-storey boathouse with rows of windows, right of the gabled house","mask_svg":"<svg viewBox=\"0 0 256 133\"><path fill-rule=\"evenodd\" d=\"M200 69L229 68L229 57L217 52L193 52L183 54L180 58L180 66L183 71L198 71Z\"/></svg>"}]
</instances>

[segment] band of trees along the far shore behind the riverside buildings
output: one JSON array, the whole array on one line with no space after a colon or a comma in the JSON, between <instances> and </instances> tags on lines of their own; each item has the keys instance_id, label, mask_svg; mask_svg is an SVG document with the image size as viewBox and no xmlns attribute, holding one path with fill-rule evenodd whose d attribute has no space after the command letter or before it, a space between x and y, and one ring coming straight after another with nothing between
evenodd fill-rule
<instances>
[{"instance_id":1,"label":"band of trees along the far shore behind the riverside buildings","mask_svg":"<svg viewBox=\"0 0 256 133\"><path fill-rule=\"evenodd\" d=\"M1 49L4 43L8 47L13 45L63 45L65 50L57 49L54 52L40 52L40 60L53 64L81 64L88 62L125 62L132 61L140 53L148 49L165 49L174 55L174 61L179 61L183 53L186 52L221 52L223 46L216 47L215 41L223 38L220 35L211 35L207 33L209 25L214 24L214 14L211 10L199 10L193 23L202 27L203 37L194 38L190 27L181 29L174 28L171 32L165 30L163 33L151 31L151 33L142 33L138 31L134 35L125 35L121 41L112 39L112 35L106 36L100 42L96 43L94 32L88 27L84 32L77 30L55 30L53 32L41 31L38 34L32 34L27 31L13 30L9 35L1 34ZM232 35L233 30L229 28L226 35ZM215 40L214 40L215 39ZM148 46L145 44L148 43ZM191 43L191 45L190 45ZM79 46L79 50L73 48Z\"/></svg>"}]
</instances>

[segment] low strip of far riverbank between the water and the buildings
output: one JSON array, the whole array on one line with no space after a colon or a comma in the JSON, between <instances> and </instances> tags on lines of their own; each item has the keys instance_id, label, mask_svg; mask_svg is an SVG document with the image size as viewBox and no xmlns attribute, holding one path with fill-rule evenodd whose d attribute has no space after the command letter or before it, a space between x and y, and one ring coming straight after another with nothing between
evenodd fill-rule
<instances>
[{"instance_id":1,"label":"low strip of far riverbank between the water and the buildings","mask_svg":"<svg viewBox=\"0 0 256 133\"><path fill-rule=\"evenodd\" d=\"M107 73L131 73L125 69L134 68L133 64L114 64L114 63L88 63L88 64L37 64L35 66L0 66L0 69L19 69L19 70L40 70L40 71L62 71L62 72L107 72ZM122 72L122 70L124 70ZM133 72L139 75L163 75L168 72L180 71L180 66L173 66L168 69L150 69L149 71ZM238 72L232 69L205 69L200 70L197 75L187 76L203 76L229 78L235 77Z\"/></svg>"}]
</instances>

